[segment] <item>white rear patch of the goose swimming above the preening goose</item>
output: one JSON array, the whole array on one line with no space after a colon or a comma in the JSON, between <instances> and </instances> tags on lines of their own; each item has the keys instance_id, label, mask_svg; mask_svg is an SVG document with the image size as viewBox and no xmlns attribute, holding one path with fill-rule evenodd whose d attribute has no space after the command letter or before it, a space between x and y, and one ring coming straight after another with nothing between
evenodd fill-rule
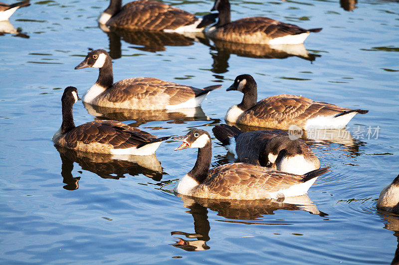
<instances>
[{"instance_id":1,"label":"white rear patch of the goose swimming above the preening goose","mask_svg":"<svg viewBox=\"0 0 399 265\"><path fill-rule=\"evenodd\" d=\"M310 127L322 127L320 129L342 129L348 124L348 122L356 115L357 112L351 112L338 117L333 116L322 116L319 115L315 118L308 119L305 125L305 129Z\"/></svg>"}]
</instances>

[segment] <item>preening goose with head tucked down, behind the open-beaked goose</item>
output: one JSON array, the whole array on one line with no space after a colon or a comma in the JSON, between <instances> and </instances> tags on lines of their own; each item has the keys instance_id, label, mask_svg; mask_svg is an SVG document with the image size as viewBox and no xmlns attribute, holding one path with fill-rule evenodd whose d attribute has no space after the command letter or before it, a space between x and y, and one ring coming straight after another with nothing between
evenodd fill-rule
<instances>
[{"instance_id":1,"label":"preening goose with head tucked down, behind the open-beaked goose","mask_svg":"<svg viewBox=\"0 0 399 265\"><path fill-rule=\"evenodd\" d=\"M243 133L235 126L221 124L212 132L241 162L297 175L320 168L319 159L308 145L301 139L291 140L285 131Z\"/></svg>"}]
</instances>

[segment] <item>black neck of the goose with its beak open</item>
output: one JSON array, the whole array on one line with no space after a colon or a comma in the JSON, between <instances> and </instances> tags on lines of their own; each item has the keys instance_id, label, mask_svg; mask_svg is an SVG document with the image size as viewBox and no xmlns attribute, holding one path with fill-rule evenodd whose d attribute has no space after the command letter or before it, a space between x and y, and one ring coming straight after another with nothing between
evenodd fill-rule
<instances>
[{"instance_id":1,"label":"black neck of the goose with its beak open","mask_svg":"<svg viewBox=\"0 0 399 265\"><path fill-rule=\"evenodd\" d=\"M194 178L198 183L205 181L206 177L208 177L211 159L212 145L210 141L208 141L204 147L198 149L196 165L194 165L194 168L188 175Z\"/></svg>"}]
</instances>

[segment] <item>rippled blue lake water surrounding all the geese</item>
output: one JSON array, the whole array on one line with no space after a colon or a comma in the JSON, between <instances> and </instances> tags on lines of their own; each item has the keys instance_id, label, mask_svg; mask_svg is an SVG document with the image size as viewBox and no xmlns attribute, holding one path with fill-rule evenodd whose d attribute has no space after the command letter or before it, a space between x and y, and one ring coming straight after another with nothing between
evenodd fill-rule
<instances>
[{"instance_id":1,"label":"rippled blue lake water surrounding all the geese","mask_svg":"<svg viewBox=\"0 0 399 265\"><path fill-rule=\"evenodd\" d=\"M164 2L197 15L213 4ZM0 263L390 264L399 217L375 203L399 173L399 3L354 2L231 0L233 19L323 27L305 41L310 55L304 47L295 55L200 36L107 34L96 22L107 0L31 0L18 9L10 23L20 34L0 35ZM197 150L175 152L177 141L135 162L54 147L63 89L75 86L82 95L96 81L97 69L74 67L100 48L114 58L115 81L144 76L222 88L188 113L115 113L80 101L76 124L98 117L160 137L211 132L242 98L225 91L239 74L255 78L258 99L301 94L370 112L345 131L304 135L321 166L331 167L307 196L179 198L174 183L192 169ZM212 166L234 161L226 153L214 141Z\"/></svg>"}]
</instances>

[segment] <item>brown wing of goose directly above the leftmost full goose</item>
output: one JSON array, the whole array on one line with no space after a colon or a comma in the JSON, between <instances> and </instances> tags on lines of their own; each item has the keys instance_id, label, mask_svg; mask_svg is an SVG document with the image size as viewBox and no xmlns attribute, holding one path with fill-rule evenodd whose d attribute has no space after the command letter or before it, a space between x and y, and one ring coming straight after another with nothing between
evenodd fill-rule
<instances>
[{"instance_id":1,"label":"brown wing of goose directly above the leftmost full goose","mask_svg":"<svg viewBox=\"0 0 399 265\"><path fill-rule=\"evenodd\" d=\"M108 88L108 100L123 102L131 99L146 99L167 96L169 104L175 105L195 97L202 89L179 85L156 78L132 78L119 81Z\"/></svg>"}]
</instances>

